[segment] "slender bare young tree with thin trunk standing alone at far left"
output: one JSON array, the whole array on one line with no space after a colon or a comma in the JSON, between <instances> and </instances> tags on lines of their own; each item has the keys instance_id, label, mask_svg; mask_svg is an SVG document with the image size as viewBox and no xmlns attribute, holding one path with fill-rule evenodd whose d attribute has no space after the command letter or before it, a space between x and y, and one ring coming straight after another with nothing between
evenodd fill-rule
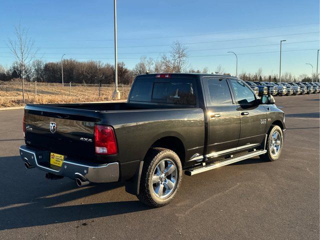
<instances>
[{"instance_id":1,"label":"slender bare young tree with thin trunk standing alone at far left","mask_svg":"<svg viewBox=\"0 0 320 240\"><path fill-rule=\"evenodd\" d=\"M7 46L11 53L16 57L20 64L22 75L22 99L24 102L24 68L35 56L36 50L33 51L34 40L28 37L28 29L21 25L14 26L16 40L8 38Z\"/></svg>"}]
</instances>

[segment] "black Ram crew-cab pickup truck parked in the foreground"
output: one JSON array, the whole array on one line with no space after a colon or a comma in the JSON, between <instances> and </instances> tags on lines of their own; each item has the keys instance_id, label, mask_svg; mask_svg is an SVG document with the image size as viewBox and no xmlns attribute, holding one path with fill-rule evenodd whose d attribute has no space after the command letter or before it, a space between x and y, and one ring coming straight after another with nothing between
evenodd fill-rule
<instances>
[{"instance_id":1,"label":"black Ram crew-cab pickup truck parked in the foreground","mask_svg":"<svg viewBox=\"0 0 320 240\"><path fill-rule=\"evenodd\" d=\"M276 160L284 112L244 81L194 73L138 75L127 102L27 104L26 168L78 186L125 184L151 206L163 206L186 175L246 158Z\"/></svg>"}]
</instances>

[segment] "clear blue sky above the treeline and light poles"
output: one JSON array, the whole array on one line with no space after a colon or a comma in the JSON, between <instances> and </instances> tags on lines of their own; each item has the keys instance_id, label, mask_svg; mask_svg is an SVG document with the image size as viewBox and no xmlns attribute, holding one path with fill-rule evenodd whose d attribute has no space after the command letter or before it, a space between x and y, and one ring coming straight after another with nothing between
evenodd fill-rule
<instances>
[{"instance_id":1,"label":"clear blue sky above the treeline and light poles","mask_svg":"<svg viewBox=\"0 0 320 240\"><path fill-rule=\"evenodd\" d=\"M37 58L114 62L113 0L0 0L0 64L14 56L14 25L28 28ZM118 0L118 61L133 68L141 56L159 59L173 41L187 47L188 67L221 65L235 74L311 75L319 48L318 0Z\"/></svg>"}]
</instances>

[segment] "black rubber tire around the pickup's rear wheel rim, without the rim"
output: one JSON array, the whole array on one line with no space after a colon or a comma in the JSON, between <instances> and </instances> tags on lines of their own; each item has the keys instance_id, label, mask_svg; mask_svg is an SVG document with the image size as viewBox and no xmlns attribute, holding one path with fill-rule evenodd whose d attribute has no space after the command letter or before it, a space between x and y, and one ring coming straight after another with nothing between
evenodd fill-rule
<instances>
[{"instance_id":1,"label":"black rubber tire around the pickup's rear wheel rim, without the rim","mask_svg":"<svg viewBox=\"0 0 320 240\"><path fill-rule=\"evenodd\" d=\"M166 161L166 159L168 160ZM161 176L160 175L159 179L161 180L159 180L158 183L153 183L152 177L158 174L158 170L160 169L158 165L160 165L163 161L166 162L167 164L165 167L165 170L169 168L168 162L174 163L174 164L170 164L170 166L174 165L175 171L174 173L168 174L167 177L170 177L170 180L173 181L172 175L174 174L175 179L174 179L174 187L172 187L172 190L165 189L165 186L166 186L165 181L168 180L169 178L165 179L165 181L162 181L163 183L162 187L164 187L164 190L162 190L161 192L165 193L166 191L170 191L170 193L167 193L168 194L167 196L165 196L165 194L164 196L162 196L163 193L159 193L161 194L161 197L159 197L156 193L156 190L158 189L159 184L161 184L161 180L163 178L160 178ZM140 201L142 201L144 204L147 204L149 206L153 206L153 207L164 206L168 204L175 196L176 192L179 189L181 180L182 180L182 165L178 155L170 149L160 148L160 147L151 148L149 149L144 159L142 172L141 172L139 194L137 195L137 197ZM154 189L154 187L157 187L157 188ZM158 189L158 192L159 191L160 190Z\"/></svg>"}]
</instances>

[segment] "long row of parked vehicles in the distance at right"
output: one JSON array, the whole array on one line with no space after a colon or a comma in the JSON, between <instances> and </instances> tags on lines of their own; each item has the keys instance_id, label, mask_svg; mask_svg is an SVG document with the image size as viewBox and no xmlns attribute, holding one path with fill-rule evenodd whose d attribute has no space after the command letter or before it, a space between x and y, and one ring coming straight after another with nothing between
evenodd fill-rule
<instances>
[{"instance_id":1,"label":"long row of parked vehicles in the distance at right","mask_svg":"<svg viewBox=\"0 0 320 240\"><path fill-rule=\"evenodd\" d=\"M246 81L246 83L259 95L300 95L320 92L319 82L267 82Z\"/></svg>"}]
</instances>

